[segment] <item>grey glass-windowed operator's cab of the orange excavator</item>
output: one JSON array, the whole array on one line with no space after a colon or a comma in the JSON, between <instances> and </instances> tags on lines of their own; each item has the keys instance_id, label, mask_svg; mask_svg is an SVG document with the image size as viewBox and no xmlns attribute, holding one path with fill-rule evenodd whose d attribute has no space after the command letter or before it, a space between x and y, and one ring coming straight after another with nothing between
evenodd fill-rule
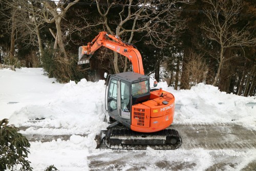
<instances>
[{"instance_id":1,"label":"grey glass-windowed operator's cab of the orange excavator","mask_svg":"<svg viewBox=\"0 0 256 171\"><path fill-rule=\"evenodd\" d=\"M148 76L134 72L109 75L105 107L111 118L130 127L132 106L148 99L150 99Z\"/></svg>"}]
</instances>

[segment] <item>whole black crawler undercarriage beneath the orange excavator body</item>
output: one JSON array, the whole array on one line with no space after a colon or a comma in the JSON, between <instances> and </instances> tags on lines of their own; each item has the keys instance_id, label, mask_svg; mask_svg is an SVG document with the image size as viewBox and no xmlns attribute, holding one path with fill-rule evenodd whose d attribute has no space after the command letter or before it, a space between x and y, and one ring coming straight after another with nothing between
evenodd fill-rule
<instances>
[{"instance_id":1,"label":"whole black crawler undercarriage beneath the orange excavator body","mask_svg":"<svg viewBox=\"0 0 256 171\"><path fill-rule=\"evenodd\" d=\"M156 133L139 133L129 129L111 128L106 133L105 144L112 149L177 149L182 139L176 130L166 129Z\"/></svg>"}]
</instances>

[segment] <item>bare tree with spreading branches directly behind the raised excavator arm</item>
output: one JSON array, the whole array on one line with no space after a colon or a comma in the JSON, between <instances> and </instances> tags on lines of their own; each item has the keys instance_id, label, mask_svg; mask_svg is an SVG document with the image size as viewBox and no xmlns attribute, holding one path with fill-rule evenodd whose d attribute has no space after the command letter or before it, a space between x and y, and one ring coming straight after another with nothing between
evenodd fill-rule
<instances>
[{"instance_id":1,"label":"bare tree with spreading branches directly behind the raised excavator arm","mask_svg":"<svg viewBox=\"0 0 256 171\"><path fill-rule=\"evenodd\" d=\"M104 1L95 0L100 18L95 23L87 23L86 28L102 25L110 34L125 37L128 44L134 40L134 33L140 33L140 38L147 37L145 44L163 47L170 43L169 38L175 32L186 28L186 20L181 19L181 9L178 4L193 4L194 1ZM110 20L110 11L119 7L115 20ZM85 22L86 23L86 22ZM115 27L113 27L113 25ZM114 29L113 29L114 28ZM168 39L168 41L167 41ZM120 72L118 54L114 52L114 71ZM124 58L123 72L127 70L127 58Z\"/></svg>"}]
</instances>

